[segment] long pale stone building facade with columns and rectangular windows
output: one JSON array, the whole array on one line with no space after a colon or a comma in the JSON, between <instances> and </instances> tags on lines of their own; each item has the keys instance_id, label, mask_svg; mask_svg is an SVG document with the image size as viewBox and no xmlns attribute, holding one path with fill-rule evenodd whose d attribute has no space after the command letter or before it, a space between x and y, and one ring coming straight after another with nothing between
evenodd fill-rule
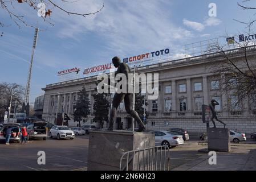
<instances>
[{"instance_id":1,"label":"long pale stone building facade with columns and rectangular windows","mask_svg":"<svg viewBox=\"0 0 256 182\"><path fill-rule=\"evenodd\" d=\"M230 49L226 53L232 59L241 61L245 56L239 48ZM256 61L256 46L248 47L247 57L251 61ZM225 94L220 86L225 75L216 78L216 71L209 68L208 63L220 59L224 59L220 53L210 53L136 68L136 73L159 73L159 97L157 100L147 100L147 129L164 130L179 127L198 134L205 132L206 124L202 123L202 104L209 105L210 101L215 99L220 103L216 107L218 117L226 123L227 128L243 133L255 132L256 104L251 103L249 98L243 101L240 107L233 106L237 101L233 90ZM133 69L131 71L133 72ZM64 110L71 118L69 126L76 126L72 117L73 106L78 100L79 90L85 86L91 102L91 114L86 123L92 123L92 94L95 93L95 81L96 76L91 76L46 85L46 88L42 89L45 91L43 118L54 123L56 110L58 109L58 113ZM123 129L129 129L131 123L131 117L121 103L114 129L119 129L121 125ZM220 123L216 124L217 127L222 127ZM213 126L212 123L210 126ZM104 122L104 127L107 127L107 122Z\"/></svg>"}]
</instances>

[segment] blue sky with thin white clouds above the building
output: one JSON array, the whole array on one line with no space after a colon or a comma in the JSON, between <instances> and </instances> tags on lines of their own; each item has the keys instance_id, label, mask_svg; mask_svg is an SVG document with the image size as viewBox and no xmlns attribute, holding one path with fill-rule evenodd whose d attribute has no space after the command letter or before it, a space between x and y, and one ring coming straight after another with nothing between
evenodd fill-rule
<instances>
[{"instance_id":1,"label":"blue sky with thin white clouds above the building","mask_svg":"<svg viewBox=\"0 0 256 182\"><path fill-rule=\"evenodd\" d=\"M55 1L58 2L59 1ZM245 25L233 19L256 18L255 11L242 10L241 0L80 0L60 3L70 11L96 15L74 16L52 9L51 26L43 22L24 3L14 3L15 12L25 15L27 22L38 23L38 43L35 50L30 102L42 94L46 84L58 82L57 72L110 63L113 56L121 58L169 48L170 55L184 56L184 45L201 40L245 32ZM208 15L209 3L216 3L217 16ZM244 5L256 5L254 0ZM48 6L48 5L46 5ZM46 7L47 8L47 7ZM15 25L0 8L0 82L26 85L34 28Z\"/></svg>"}]
</instances>

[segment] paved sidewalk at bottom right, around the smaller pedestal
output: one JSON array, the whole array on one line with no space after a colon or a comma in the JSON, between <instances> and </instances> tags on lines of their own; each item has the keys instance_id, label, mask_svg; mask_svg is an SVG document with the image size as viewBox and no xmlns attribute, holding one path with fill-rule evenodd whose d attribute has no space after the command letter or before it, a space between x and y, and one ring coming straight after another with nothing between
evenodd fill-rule
<instances>
[{"instance_id":1,"label":"paved sidewalk at bottom right, around the smaller pedestal","mask_svg":"<svg viewBox=\"0 0 256 182\"><path fill-rule=\"evenodd\" d=\"M207 146L205 146L207 148ZM231 152L217 152L217 164L210 165L204 154L173 171L256 171L256 144L231 144Z\"/></svg>"}]
</instances>

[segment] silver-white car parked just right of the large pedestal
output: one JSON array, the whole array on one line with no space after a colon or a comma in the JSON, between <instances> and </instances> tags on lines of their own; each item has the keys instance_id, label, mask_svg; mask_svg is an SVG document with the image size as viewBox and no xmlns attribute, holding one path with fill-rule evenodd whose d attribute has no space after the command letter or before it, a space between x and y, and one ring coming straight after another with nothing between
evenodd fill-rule
<instances>
[{"instance_id":1,"label":"silver-white car parked just right of the large pedestal","mask_svg":"<svg viewBox=\"0 0 256 182\"><path fill-rule=\"evenodd\" d=\"M184 144L182 135L177 135L170 131L151 131L151 133L155 133L156 146L176 147Z\"/></svg>"}]
</instances>

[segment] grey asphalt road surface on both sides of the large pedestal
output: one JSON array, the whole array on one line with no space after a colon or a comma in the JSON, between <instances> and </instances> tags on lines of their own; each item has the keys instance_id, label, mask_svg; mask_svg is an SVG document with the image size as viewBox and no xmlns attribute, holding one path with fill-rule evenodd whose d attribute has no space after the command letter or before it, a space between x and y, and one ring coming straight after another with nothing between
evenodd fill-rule
<instances>
[{"instance_id":1,"label":"grey asphalt road surface on both sides of the large pedestal","mask_svg":"<svg viewBox=\"0 0 256 182\"><path fill-rule=\"evenodd\" d=\"M87 170L87 156L89 135L75 137L75 139L50 139L31 140L27 144L0 143L0 171L2 170ZM253 142L253 143L251 143ZM246 141L243 146L250 146L256 141ZM232 144L234 145L234 144ZM190 139L185 144L170 149L170 169L174 169L182 164L188 163L207 155L198 152L206 146L198 145L198 139ZM38 151L46 154L46 164L37 163Z\"/></svg>"}]
</instances>

